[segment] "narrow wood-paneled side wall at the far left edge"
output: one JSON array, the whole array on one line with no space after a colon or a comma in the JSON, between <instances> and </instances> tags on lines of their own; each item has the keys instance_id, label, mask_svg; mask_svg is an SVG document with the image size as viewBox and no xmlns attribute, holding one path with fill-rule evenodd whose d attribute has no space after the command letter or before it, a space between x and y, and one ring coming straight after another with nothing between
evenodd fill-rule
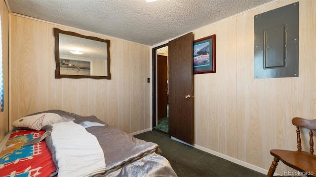
<instances>
[{"instance_id":1,"label":"narrow wood-paneled side wall at the far left edge","mask_svg":"<svg viewBox=\"0 0 316 177\"><path fill-rule=\"evenodd\" d=\"M0 140L9 131L9 11L4 0L0 0L1 39L2 39L2 70L3 70L3 112L0 112Z\"/></svg>"}]
</instances>

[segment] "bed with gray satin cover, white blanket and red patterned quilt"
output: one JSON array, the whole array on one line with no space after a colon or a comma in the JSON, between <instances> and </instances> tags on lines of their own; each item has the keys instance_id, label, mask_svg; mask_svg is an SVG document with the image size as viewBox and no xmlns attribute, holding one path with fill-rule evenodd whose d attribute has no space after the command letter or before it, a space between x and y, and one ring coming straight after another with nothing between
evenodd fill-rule
<instances>
[{"instance_id":1,"label":"bed with gray satin cover, white blanket and red patterned quilt","mask_svg":"<svg viewBox=\"0 0 316 177\"><path fill-rule=\"evenodd\" d=\"M157 144L95 116L49 110L12 126L0 143L0 177L177 177Z\"/></svg>"}]
</instances>

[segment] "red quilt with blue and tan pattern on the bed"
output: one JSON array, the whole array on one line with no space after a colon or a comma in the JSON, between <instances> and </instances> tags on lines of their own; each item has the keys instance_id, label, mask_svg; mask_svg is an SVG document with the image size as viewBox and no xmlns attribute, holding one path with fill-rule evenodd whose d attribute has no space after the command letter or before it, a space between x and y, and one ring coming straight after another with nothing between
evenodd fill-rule
<instances>
[{"instance_id":1,"label":"red quilt with blue and tan pattern on the bed","mask_svg":"<svg viewBox=\"0 0 316 177\"><path fill-rule=\"evenodd\" d=\"M0 152L0 177L49 177L56 171L45 141L23 147L45 131L14 128Z\"/></svg>"}]
</instances>

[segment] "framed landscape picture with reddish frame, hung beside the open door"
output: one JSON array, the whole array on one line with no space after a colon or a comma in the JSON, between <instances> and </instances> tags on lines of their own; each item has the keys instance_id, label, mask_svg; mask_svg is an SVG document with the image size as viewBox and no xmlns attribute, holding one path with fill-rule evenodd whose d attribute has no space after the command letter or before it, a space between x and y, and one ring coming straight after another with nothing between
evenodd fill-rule
<instances>
[{"instance_id":1,"label":"framed landscape picture with reddish frame, hung beside the open door","mask_svg":"<svg viewBox=\"0 0 316 177\"><path fill-rule=\"evenodd\" d=\"M215 73L215 34L193 41L193 74Z\"/></svg>"}]
</instances>

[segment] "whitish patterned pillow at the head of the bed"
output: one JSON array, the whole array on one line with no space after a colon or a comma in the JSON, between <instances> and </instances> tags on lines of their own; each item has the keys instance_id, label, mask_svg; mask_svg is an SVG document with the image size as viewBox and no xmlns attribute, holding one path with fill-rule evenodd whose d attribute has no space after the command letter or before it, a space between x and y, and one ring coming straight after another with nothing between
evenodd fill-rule
<instances>
[{"instance_id":1,"label":"whitish patterned pillow at the head of the bed","mask_svg":"<svg viewBox=\"0 0 316 177\"><path fill-rule=\"evenodd\" d=\"M41 113L17 119L12 123L12 126L39 131L45 125L51 125L62 121L63 119L58 114Z\"/></svg>"}]
</instances>

